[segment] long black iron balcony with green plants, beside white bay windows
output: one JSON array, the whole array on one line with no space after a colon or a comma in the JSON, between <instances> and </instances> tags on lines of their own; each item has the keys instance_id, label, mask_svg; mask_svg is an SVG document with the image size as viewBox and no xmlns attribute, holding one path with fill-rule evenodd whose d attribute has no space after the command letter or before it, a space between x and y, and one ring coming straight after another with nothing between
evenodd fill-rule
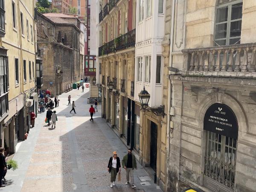
<instances>
[{"instance_id":1,"label":"long black iron balcony with green plants, beside white bay windows","mask_svg":"<svg viewBox=\"0 0 256 192\"><path fill-rule=\"evenodd\" d=\"M108 43L105 43L104 45L99 47L99 56L107 55L109 53L134 47L135 36L136 36L136 29L133 29L128 33L125 33L124 35L120 35L114 40L109 41Z\"/></svg>"}]
</instances>

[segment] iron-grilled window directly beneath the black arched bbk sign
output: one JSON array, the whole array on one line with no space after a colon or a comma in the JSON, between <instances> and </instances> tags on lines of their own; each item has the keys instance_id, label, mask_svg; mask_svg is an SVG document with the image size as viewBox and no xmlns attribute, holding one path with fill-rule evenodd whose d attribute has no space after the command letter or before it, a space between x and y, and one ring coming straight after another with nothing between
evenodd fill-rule
<instances>
[{"instance_id":1,"label":"iron-grilled window directly beneath the black arched bbk sign","mask_svg":"<svg viewBox=\"0 0 256 192\"><path fill-rule=\"evenodd\" d=\"M204 175L231 190L235 183L236 145L236 139L207 131Z\"/></svg>"}]
</instances>

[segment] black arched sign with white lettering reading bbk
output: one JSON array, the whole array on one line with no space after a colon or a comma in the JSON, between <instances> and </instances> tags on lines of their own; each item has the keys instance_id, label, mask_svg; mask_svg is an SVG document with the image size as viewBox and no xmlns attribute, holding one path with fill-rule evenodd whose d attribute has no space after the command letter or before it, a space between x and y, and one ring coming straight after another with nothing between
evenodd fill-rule
<instances>
[{"instance_id":1,"label":"black arched sign with white lettering reading bbk","mask_svg":"<svg viewBox=\"0 0 256 192\"><path fill-rule=\"evenodd\" d=\"M237 139L238 123L235 113L227 105L211 105L204 115L204 130Z\"/></svg>"}]
</instances>

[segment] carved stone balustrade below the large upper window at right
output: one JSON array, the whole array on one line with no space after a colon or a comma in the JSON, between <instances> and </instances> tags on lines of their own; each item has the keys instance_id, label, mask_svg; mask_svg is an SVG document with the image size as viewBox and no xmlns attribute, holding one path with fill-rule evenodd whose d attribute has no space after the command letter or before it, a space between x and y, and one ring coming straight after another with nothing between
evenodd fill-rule
<instances>
[{"instance_id":1,"label":"carved stone balustrade below the large upper window at right","mask_svg":"<svg viewBox=\"0 0 256 192\"><path fill-rule=\"evenodd\" d=\"M256 71L256 44L183 49L182 52L185 61L183 71L189 74L213 76L212 72L218 72L216 76L245 77L247 73ZM234 72L240 72L239 76Z\"/></svg>"}]
</instances>

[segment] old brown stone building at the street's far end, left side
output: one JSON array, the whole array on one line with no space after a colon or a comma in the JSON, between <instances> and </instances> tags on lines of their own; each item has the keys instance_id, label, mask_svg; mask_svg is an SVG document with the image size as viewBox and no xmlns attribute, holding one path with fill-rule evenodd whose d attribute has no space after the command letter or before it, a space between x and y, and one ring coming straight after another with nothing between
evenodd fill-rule
<instances>
[{"instance_id":1,"label":"old brown stone building at the street's far end, left side","mask_svg":"<svg viewBox=\"0 0 256 192\"><path fill-rule=\"evenodd\" d=\"M37 43L45 79L42 90L49 89L55 96L66 91L82 76L80 20L65 14L36 14Z\"/></svg>"}]
</instances>

